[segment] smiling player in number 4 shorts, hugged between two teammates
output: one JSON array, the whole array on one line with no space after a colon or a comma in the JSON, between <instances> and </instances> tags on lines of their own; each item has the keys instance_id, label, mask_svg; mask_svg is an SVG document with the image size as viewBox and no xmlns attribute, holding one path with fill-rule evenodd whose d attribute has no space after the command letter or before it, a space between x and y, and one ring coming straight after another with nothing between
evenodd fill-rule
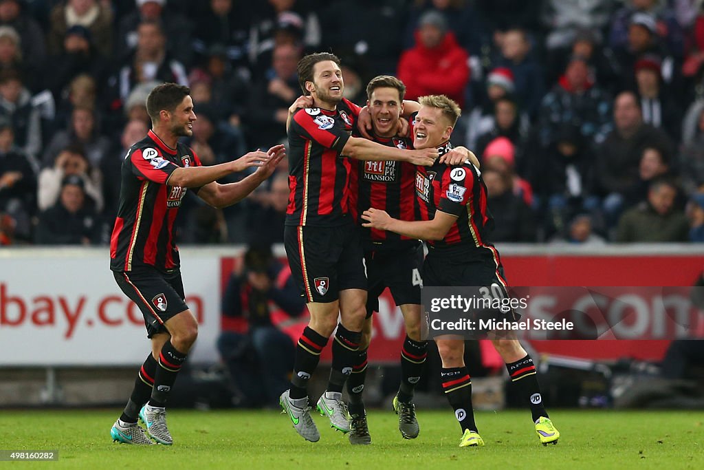
<instances>
[{"instance_id":1,"label":"smiling player in number 4 shorts, hugged between two teammates","mask_svg":"<svg viewBox=\"0 0 704 470\"><path fill-rule=\"evenodd\" d=\"M398 149L413 149L410 137L398 137L398 121L405 109L417 109L416 101L403 101L406 85L396 77L379 75L367 85L367 110L370 115L371 140ZM455 147L451 161L476 157L465 147ZM450 164L450 163L448 163ZM401 220L415 220L415 165L401 161L359 161L351 167L350 210L358 223L368 207L384 209ZM401 386L394 397L398 430L406 439L417 437L420 428L415 416L413 391L425 366L427 342L421 340L420 266L422 247L417 239L384 230L362 229L365 266L367 267L367 319L352 373L347 379L351 416L350 443L369 444L371 436L363 401L367 371L367 348L372 338L372 314L379 311L379 295L389 287L406 323L406 339L401 349Z\"/></svg>"}]
</instances>

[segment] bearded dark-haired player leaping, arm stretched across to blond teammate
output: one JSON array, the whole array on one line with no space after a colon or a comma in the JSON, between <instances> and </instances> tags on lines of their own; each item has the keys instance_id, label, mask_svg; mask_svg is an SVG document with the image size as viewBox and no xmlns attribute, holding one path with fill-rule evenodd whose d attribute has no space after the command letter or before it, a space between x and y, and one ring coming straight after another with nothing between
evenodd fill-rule
<instances>
[{"instance_id":1,"label":"bearded dark-haired player leaping, arm stretched across to blond teammate","mask_svg":"<svg viewBox=\"0 0 704 470\"><path fill-rule=\"evenodd\" d=\"M434 148L401 150L351 137L360 108L342 97L339 63L329 53L310 54L298 62L301 89L313 101L292 114L288 129L291 195L284 245L291 273L306 297L310 323L298 340L291 388L279 401L296 432L311 442L320 440L320 433L310 417L308 380L333 331L332 370L317 408L333 428L350 430L342 388L366 316L367 277L358 230L349 214L351 163L344 157L419 165L437 157Z\"/></svg>"}]
</instances>

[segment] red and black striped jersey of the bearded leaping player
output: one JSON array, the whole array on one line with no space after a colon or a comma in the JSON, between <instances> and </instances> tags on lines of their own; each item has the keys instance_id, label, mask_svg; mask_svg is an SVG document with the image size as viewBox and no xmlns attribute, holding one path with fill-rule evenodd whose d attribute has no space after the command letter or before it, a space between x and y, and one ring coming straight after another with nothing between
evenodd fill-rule
<instances>
[{"instance_id":1,"label":"red and black striped jersey of the bearded leaping player","mask_svg":"<svg viewBox=\"0 0 704 470\"><path fill-rule=\"evenodd\" d=\"M341 151L360 107L342 99L335 111L299 109L289 125L289 206L286 225L347 223L351 163Z\"/></svg>"}]
</instances>

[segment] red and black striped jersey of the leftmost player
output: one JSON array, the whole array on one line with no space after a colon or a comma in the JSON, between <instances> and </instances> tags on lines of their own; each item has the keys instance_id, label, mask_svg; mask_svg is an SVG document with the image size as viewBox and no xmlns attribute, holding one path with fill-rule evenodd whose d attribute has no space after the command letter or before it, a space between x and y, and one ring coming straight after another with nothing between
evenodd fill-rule
<instances>
[{"instance_id":1,"label":"red and black striped jersey of the leftmost player","mask_svg":"<svg viewBox=\"0 0 704 470\"><path fill-rule=\"evenodd\" d=\"M170 149L151 130L130 147L122 161L120 206L110 238L110 268L132 271L153 266L178 268L180 259L173 228L188 188L166 185L176 168L201 166L187 145ZM191 188L198 192L200 188Z\"/></svg>"}]
</instances>

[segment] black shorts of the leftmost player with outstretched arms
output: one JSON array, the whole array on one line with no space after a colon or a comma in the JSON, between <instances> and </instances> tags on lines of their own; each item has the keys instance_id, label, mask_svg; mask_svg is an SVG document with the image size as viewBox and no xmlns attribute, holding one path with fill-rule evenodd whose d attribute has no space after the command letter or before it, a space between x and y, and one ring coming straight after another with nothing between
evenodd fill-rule
<instances>
[{"instance_id":1,"label":"black shorts of the leftmost player with outstretched arms","mask_svg":"<svg viewBox=\"0 0 704 470\"><path fill-rule=\"evenodd\" d=\"M113 271L113 276L122 292L142 311L147 338L156 333L168 333L164 323L188 310L178 269L161 273L156 269L140 268L138 271Z\"/></svg>"}]
</instances>

